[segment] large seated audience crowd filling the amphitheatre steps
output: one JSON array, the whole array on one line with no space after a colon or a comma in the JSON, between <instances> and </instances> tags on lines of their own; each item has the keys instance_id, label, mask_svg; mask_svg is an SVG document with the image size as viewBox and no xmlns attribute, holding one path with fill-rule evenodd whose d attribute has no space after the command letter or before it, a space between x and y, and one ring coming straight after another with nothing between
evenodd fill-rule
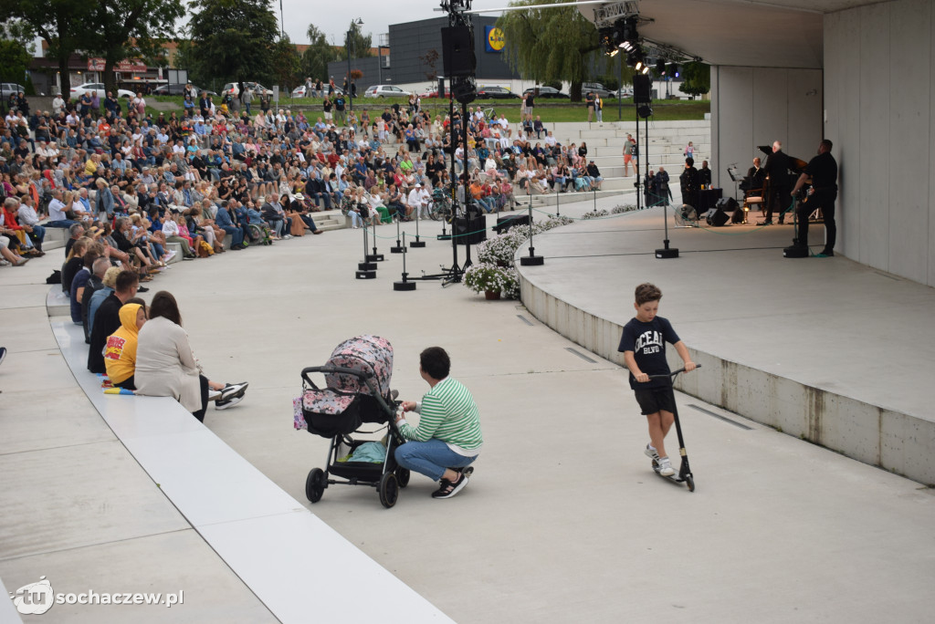
<instances>
[{"instance_id":1,"label":"large seated audience crowd filling the amphitheatre steps","mask_svg":"<svg viewBox=\"0 0 935 624\"><path fill-rule=\"evenodd\" d=\"M323 117L249 111L250 90L215 106L191 94L181 114L146 114L142 94L101 106L56 97L30 113L18 99L0 128L0 253L22 265L41 255L48 227L73 228L101 242L109 258L144 278L165 265L166 243L185 259L230 248L320 234L312 214L339 208L352 226L424 217L459 191L483 209L516 204L525 193L599 188L587 146L563 146L529 113L513 128L478 106L434 119L418 98L409 106L341 111ZM359 112L359 116L358 116ZM462 140L468 125L467 149ZM448 129L457 131L455 146ZM48 218L48 221L44 221ZM73 233L73 238L77 238Z\"/></svg>"}]
</instances>

